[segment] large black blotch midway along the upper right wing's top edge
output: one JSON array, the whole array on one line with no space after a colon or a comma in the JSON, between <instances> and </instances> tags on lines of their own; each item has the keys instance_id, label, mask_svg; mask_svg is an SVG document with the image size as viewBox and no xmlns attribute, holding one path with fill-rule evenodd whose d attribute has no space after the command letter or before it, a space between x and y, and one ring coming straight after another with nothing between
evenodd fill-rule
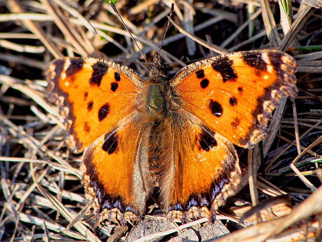
<instances>
[{"instance_id":1,"label":"large black blotch midway along the upper right wing's top edge","mask_svg":"<svg viewBox=\"0 0 322 242\"><path fill-rule=\"evenodd\" d=\"M213 61L211 65L213 70L219 72L223 77L223 82L236 81L237 74L232 68L233 61L229 60L227 56L222 56Z\"/></svg>"}]
</instances>

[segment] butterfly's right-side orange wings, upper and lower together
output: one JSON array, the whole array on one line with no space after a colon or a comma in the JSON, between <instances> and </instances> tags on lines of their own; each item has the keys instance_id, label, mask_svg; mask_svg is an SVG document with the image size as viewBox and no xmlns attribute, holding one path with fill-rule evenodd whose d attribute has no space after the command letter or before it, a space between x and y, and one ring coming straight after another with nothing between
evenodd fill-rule
<instances>
[{"instance_id":1,"label":"butterfly's right-side orange wings, upper and lower together","mask_svg":"<svg viewBox=\"0 0 322 242\"><path fill-rule=\"evenodd\" d=\"M246 51L193 63L170 80L173 169L160 182L170 218L213 219L235 194L233 144L249 148L266 134L279 99L296 93L295 69L283 52Z\"/></svg>"}]
</instances>

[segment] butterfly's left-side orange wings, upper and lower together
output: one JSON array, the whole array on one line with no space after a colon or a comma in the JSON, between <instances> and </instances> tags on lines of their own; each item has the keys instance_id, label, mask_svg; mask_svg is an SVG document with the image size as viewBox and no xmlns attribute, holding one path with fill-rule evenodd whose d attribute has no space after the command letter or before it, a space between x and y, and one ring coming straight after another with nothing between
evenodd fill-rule
<instances>
[{"instance_id":1,"label":"butterfly's left-side orange wings, upper and lower together","mask_svg":"<svg viewBox=\"0 0 322 242\"><path fill-rule=\"evenodd\" d=\"M146 159L138 122L143 80L131 69L94 58L55 60L47 70L49 100L60 105L67 141L84 149L81 170L96 225L137 220L145 211ZM147 186L146 186L147 187Z\"/></svg>"}]
</instances>

